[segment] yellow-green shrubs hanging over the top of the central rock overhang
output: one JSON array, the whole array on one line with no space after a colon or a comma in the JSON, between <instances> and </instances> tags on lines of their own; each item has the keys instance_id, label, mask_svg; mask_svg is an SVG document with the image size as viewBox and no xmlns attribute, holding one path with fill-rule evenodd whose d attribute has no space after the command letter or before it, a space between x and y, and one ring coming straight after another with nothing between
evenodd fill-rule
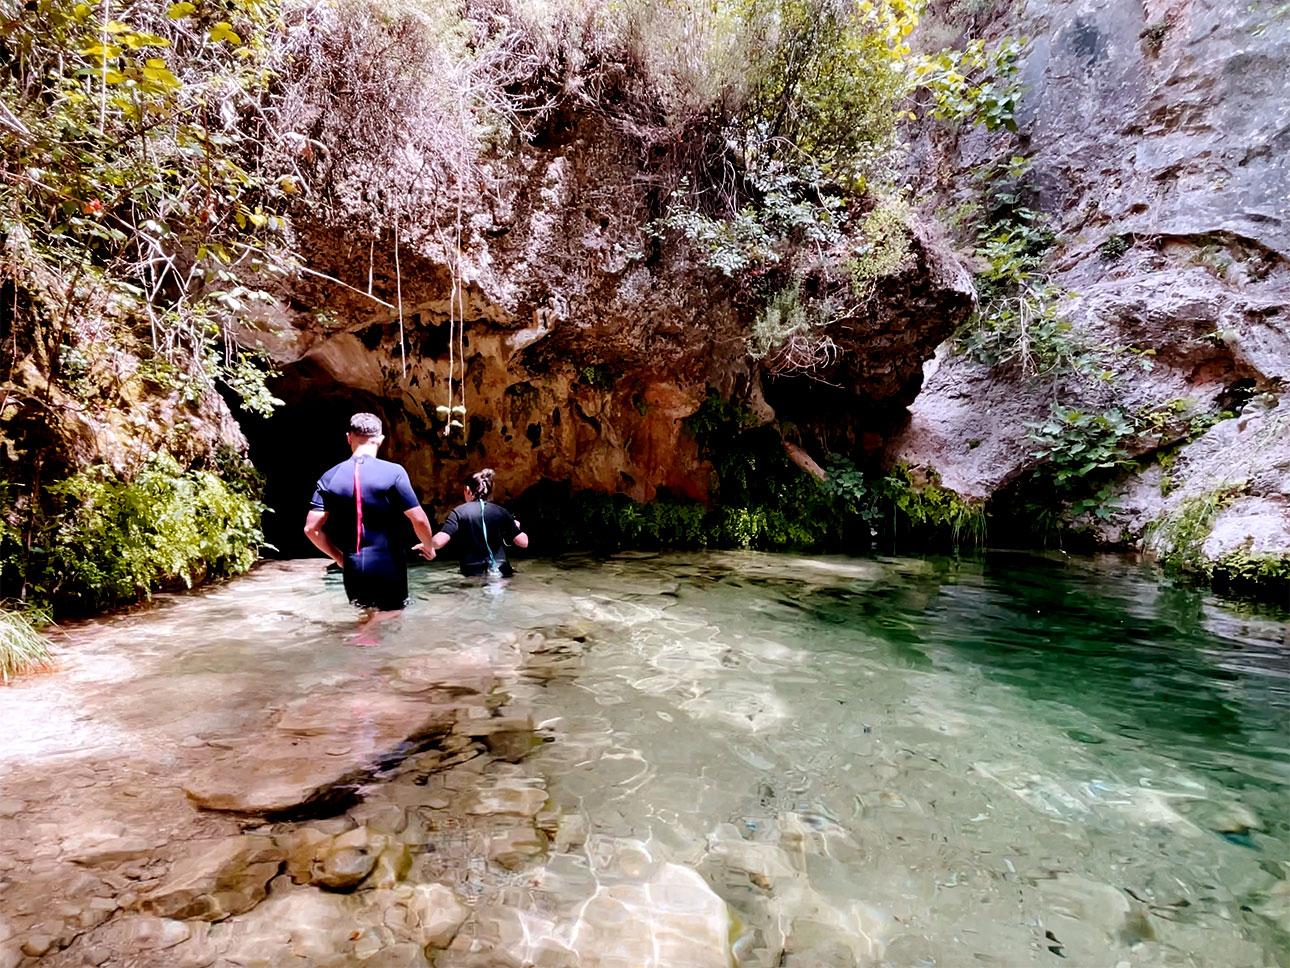
<instances>
[{"instance_id":1,"label":"yellow-green shrubs hanging over the top of the central rock overhang","mask_svg":"<svg viewBox=\"0 0 1290 968\"><path fill-rule=\"evenodd\" d=\"M650 10L639 15L655 28L667 19L657 4L627 6ZM880 200L857 223L846 199L894 181L898 123L915 116L908 106L918 90L931 93L937 117L1015 129L1022 44L973 41L962 50L915 54L907 37L922 4L908 0L682 0L679 9L695 27L673 36L663 25L666 49L676 52L664 55L668 72L711 99L703 111L690 103L691 128L676 125L676 141L702 145L694 129L708 132L720 119L720 133L711 132L708 142L720 148L702 154L703 170L693 170L695 152L686 152L691 169L658 225L694 243L726 276L786 265L787 279L769 290L749 348L757 359L774 356L775 370L814 369L831 361L835 347L808 333L835 307L801 299L810 266L826 249L860 236L846 270L863 301L881 276L908 265L907 204ZM695 35L704 37L698 50ZM682 50L691 55L679 63ZM711 70L716 62L725 83L691 76L691 65Z\"/></svg>"}]
</instances>

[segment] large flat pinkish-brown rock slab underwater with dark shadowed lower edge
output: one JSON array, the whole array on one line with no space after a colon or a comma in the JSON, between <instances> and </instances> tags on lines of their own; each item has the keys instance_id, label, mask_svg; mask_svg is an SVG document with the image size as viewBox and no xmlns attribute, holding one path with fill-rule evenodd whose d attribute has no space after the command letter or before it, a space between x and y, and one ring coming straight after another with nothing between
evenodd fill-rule
<instances>
[{"instance_id":1,"label":"large flat pinkish-brown rock slab underwater with dark shadowed lower edge","mask_svg":"<svg viewBox=\"0 0 1290 968\"><path fill-rule=\"evenodd\" d=\"M201 809L289 813L343 796L418 743L453 729L461 709L384 692L317 694L283 711L183 783Z\"/></svg>"}]
</instances>

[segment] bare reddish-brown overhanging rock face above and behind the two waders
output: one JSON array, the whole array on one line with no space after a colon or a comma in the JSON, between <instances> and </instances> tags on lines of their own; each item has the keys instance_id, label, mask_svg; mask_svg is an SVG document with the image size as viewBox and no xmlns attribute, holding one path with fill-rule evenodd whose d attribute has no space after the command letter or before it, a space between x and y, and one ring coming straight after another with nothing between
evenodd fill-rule
<instances>
[{"instance_id":1,"label":"bare reddish-brown overhanging rock face above and behind the two waders","mask_svg":"<svg viewBox=\"0 0 1290 968\"><path fill-rule=\"evenodd\" d=\"M458 501L464 472L482 465L498 469L502 499L539 481L704 499L708 470L682 421L708 392L762 421L823 392L831 425L854 438L913 399L922 360L971 306L970 275L915 227L915 258L863 314L833 325L841 352L817 376L835 386L770 386L746 342L760 296L651 231L658 200L630 137L595 116L573 119L560 143L489 161L486 181L488 192L464 200L459 257L453 225L404 226L397 266L392 234L307 230L311 267L362 293L307 276L292 293L295 310L279 319L271 345L286 413L275 421L303 436L326 423L330 436L320 436L321 454L281 430L253 447L271 481L288 474L302 490L303 475L342 450L346 410L369 407L390 427L388 456L439 507ZM450 342L454 262L464 333ZM401 290L402 337L397 314L364 294L369 280L387 303ZM445 434L439 408L462 403L462 388L464 427ZM275 467L286 450L295 466Z\"/></svg>"}]
</instances>

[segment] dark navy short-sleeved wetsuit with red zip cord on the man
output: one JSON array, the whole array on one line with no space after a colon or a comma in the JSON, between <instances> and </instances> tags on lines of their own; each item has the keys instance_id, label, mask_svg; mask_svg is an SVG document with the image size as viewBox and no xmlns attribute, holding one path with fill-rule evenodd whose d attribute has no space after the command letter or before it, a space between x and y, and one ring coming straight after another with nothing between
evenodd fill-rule
<instances>
[{"instance_id":1,"label":"dark navy short-sleeved wetsuit with red zip cord on the man","mask_svg":"<svg viewBox=\"0 0 1290 968\"><path fill-rule=\"evenodd\" d=\"M326 511L328 537L344 551L344 591L356 605L397 609L408 601L404 511L419 503L408 471L379 457L351 457L319 479L310 507Z\"/></svg>"}]
</instances>

